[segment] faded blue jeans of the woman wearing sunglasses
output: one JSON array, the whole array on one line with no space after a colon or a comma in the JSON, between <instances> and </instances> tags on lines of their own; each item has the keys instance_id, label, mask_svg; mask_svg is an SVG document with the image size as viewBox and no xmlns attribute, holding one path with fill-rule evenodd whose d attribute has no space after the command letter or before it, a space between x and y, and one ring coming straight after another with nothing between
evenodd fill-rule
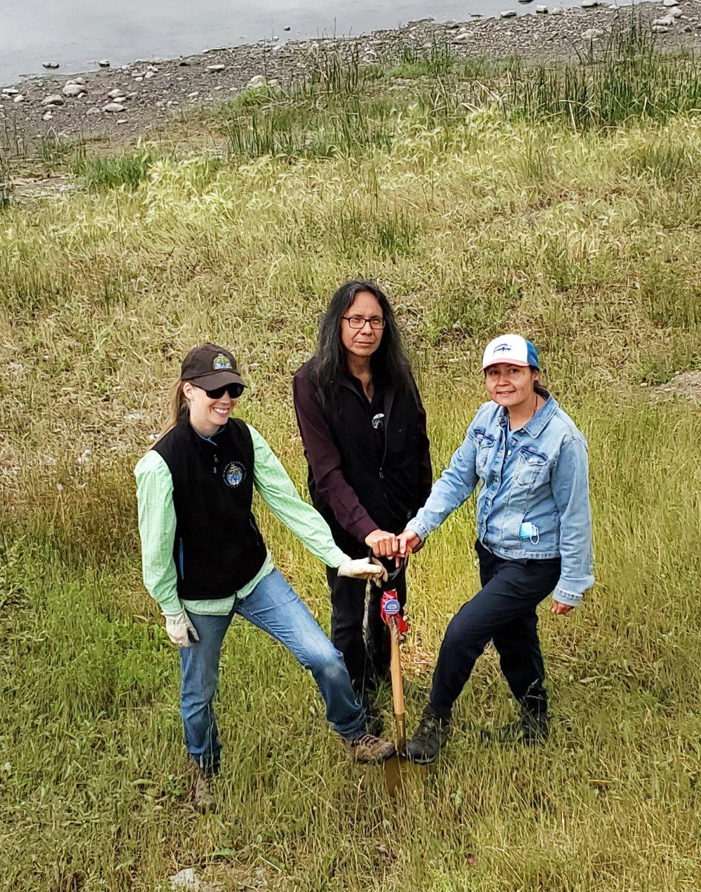
<instances>
[{"instance_id":1,"label":"faded blue jeans of the woman wearing sunglasses","mask_svg":"<svg viewBox=\"0 0 701 892\"><path fill-rule=\"evenodd\" d=\"M236 614L280 641L309 669L326 703L326 718L342 738L355 739L365 733L366 716L353 693L341 653L285 576L273 570L247 598L237 600L227 615L188 614L200 640L191 648L180 648L180 711L187 751L204 771L219 769L221 744L213 700L221 644Z\"/></svg>"}]
</instances>

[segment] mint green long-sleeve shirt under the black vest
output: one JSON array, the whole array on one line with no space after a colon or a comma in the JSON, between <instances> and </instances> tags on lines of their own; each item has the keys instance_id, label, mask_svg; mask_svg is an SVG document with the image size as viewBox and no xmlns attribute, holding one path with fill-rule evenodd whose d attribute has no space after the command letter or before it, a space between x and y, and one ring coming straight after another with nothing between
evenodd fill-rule
<instances>
[{"instance_id":1,"label":"mint green long-sleeve shirt under the black vest","mask_svg":"<svg viewBox=\"0 0 701 892\"><path fill-rule=\"evenodd\" d=\"M279 458L258 431L248 425L253 441L253 484L273 514L327 566L338 566L343 552L334 542L328 525L315 508L302 501ZM173 481L168 465L153 450L134 469L141 536L144 584L164 614L178 613L180 607L195 614L226 615L236 599L251 594L261 579L275 568L268 551L263 566L251 582L230 598L191 601L177 597L177 571L173 560L176 514Z\"/></svg>"}]
</instances>

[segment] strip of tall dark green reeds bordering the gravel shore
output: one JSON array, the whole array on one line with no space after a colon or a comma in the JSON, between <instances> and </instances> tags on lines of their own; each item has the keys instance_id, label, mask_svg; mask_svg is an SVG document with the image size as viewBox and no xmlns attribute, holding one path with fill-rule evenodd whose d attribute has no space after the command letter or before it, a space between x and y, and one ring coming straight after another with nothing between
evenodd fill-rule
<instances>
[{"instance_id":1,"label":"strip of tall dark green reeds bordering the gravel shore","mask_svg":"<svg viewBox=\"0 0 701 892\"><path fill-rule=\"evenodd\" d=\"M601 52L592 45L578 64L518 57L458 63L449 45L434 41L423 50L400 47L394 62L363 65L353 43L326 48L306 77L246 91L215 114L234 158L326 158L387 148L404 119L454 129L466 113L494 103L509 120L575 130L664 123L701 109L701 68L693 57L660 52L633 12L624 26L614 26Z\"/></svg>"}]
</instances>

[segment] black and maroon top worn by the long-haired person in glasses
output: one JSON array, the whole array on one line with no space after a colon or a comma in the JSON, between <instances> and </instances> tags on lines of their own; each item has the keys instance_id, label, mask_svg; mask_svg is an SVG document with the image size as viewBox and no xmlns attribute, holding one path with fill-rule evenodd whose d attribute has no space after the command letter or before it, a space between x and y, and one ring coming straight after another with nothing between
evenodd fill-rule
<instances>
[{"instance_id":1,"label":"black and maroon top worn by the long-haired person in glasses","mask_svg":"<svg viewBox=\"0 0 701 892\"><path fill-rule=\"evenodd\" d=\"M351 556L373 530L400 533L431 491L426 417L416 384L377 384L372 402L357 378L316 389L309 363L295 373L294 410L309 465L309 494Z\"/></svg>"}]
</instances>

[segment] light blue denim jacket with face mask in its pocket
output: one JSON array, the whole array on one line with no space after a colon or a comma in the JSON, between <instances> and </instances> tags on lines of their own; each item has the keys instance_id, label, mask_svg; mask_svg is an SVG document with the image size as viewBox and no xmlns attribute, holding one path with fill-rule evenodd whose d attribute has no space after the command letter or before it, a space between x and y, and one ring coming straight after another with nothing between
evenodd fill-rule
<instances>
[{"instance_id":1,"label":"light blue denim jacket with face mask in its pocket","mask_svg":"<svg viewBox=\"0 0 701 892\"><path fill-rule=\"evenodd\" d=\"M499 558L562 558L553 599L576 607L594 584L587 442L544 395L545 405L517 431L509 431L504 409L485 402L407 527L425 539L481 482L482 545Z\"/></svg>"}]
</instances>

